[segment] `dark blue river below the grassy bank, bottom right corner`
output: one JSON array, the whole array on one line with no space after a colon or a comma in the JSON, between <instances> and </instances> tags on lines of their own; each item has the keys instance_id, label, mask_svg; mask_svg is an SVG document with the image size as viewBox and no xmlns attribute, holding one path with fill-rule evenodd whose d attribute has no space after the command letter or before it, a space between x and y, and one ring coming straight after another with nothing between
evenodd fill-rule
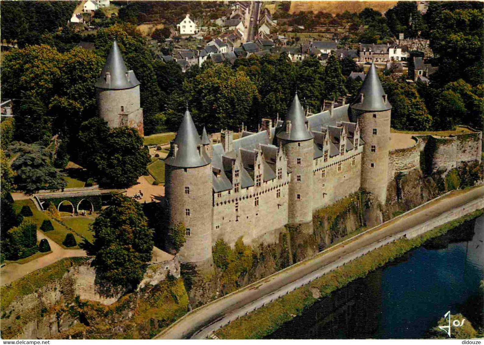
<instances>
[{"instance_id":1,"label":"dark blue river below the grassy bank, bottom right corner","mask_svg":"<svg viewBox=\"0 0 484 345\"><path fill-rule=\"evenodd\" d=\"M447 311L484 325L484 216L323 298L266 339L419 339Z\"/></svg>"}]
</instances>

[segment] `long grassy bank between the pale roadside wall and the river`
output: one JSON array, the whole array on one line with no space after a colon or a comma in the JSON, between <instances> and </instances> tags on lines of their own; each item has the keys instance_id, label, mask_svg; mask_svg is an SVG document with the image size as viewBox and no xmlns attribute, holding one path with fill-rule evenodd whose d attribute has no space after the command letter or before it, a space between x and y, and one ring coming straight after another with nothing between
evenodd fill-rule
<instances>
[{"instance_id":1,"label":"long grassy bank between the pale roadside wall and the river","mask_svg":"<svg viewBox=\"0 0 484 345\"><path fill-rule=\"evenodd\" d=\"M385 265L389 261L393 261L413 248L421 246L427 239L443 235L464 221L476 218L483 213L484 210L475 211L458 220L443 224L421 236L412 239L399 239L371 251L342 267L336 268L310 284L275 300L267 306L242 316L226 327L217 330L215 334L221 339L261 339L291 320L291 314L301 315L305 308L317 301L317 298L313 297L311 288L319 289L321 297L329 296L333 291L349 282L364 277L370 271Z\"/></svg>"}]
</instances>

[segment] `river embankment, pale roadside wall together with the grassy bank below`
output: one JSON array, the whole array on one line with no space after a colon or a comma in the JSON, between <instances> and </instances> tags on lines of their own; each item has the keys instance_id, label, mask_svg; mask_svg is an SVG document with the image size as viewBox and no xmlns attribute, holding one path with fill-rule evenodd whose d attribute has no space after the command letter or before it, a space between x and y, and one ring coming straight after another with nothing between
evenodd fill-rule
<instances>
[{"instance_id":1,"label":"river embankment, pale roadside wall together with the grassy bank below","mask_svg":"<svg viewBox=\"0 0 484 345\"><path fill-rule=\"evenodd\" d=\"M318 298L329 296L334 290L421 246L427 239L443 235L464 221L482 215L483 209L484 198L473 200L433 220L345 255L311 275L226 315L214 325L219 328L214 332L215 337L260 339L292 317L302 314Z\"/></svg>"}]
</instances>

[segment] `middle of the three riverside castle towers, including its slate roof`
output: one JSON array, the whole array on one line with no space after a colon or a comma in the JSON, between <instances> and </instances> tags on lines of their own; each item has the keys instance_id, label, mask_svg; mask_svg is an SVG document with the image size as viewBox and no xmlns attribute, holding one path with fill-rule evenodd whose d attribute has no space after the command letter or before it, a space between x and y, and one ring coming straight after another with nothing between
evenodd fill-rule
<instances>
[{"instance_id":1,"label":"middle of the three riverside castle towers, including its slate roof","mask_svg":"<svg viewBox=\"0 0 484 345\"><path fill-rule=\"evenodd\" d=\"M314 140L297 92L276 138L286 154L287 166L292 171L288 193L288 223L311 222Z\"/></svg>"}]
</instances>

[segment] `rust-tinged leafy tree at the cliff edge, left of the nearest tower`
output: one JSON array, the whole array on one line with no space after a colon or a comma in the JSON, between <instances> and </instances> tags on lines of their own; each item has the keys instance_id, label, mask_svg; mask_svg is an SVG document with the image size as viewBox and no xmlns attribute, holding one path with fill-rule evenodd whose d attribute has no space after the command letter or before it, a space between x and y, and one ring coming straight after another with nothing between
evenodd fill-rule
<instances>
[{"instance_id":1,"label":"rust-tinged leafy tree at the cliff edge, left of the nearest tower","mask_svg":"<svg viewBox=\"0 0 484 345\"><path fill-rule=\"evenodd\" d=\"M153 231L148 227L141 205L131 198L113 195L92 224L93 265L103 278L118 286L136 287L151 260Z\"/></svg>"}]
</instances>

